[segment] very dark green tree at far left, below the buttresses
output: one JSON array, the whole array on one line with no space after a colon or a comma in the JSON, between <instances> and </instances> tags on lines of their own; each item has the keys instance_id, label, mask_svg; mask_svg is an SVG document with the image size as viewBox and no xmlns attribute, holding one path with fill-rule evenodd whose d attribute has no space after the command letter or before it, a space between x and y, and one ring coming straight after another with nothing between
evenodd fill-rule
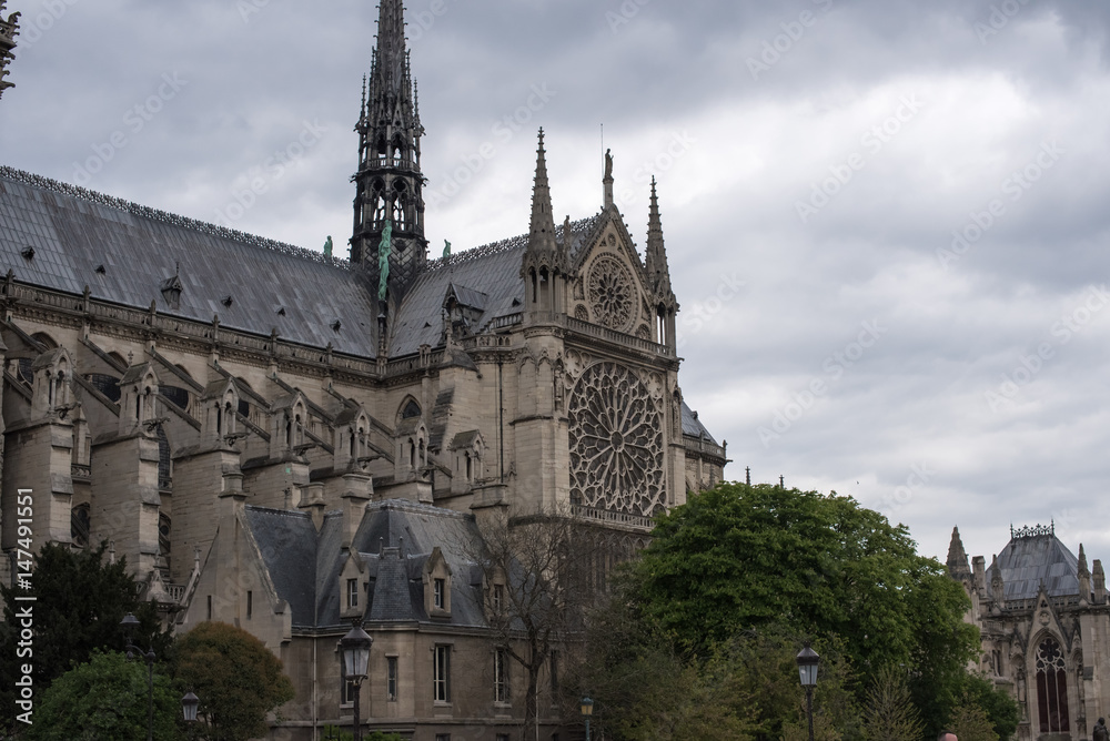
<instances>
[{"instance_id":1,"label":"very dark green tree at far left, below the buttresses","mask_svg":"<svg viewBox=\"0 0 1110 741\"><path fill-rule=\"evenodd\" d=\"M133 612L140 621L135 643L153 648L164 657L172 637L163 631L157 607L139 599L139 585L129 572L125 559L107 562L107 542L95 549L73 550L49 544L34 557L32 589L12 589L0 585L4 601L4 622L0 623L0 676L16 677L17 664L26 657L17 654L19 620L17 613L28 602L16 597L32 595L34 641L32 680L39 691L49 687L73 666L89 661L97 649L121 650L124 636L120 621ZM0 686L0 724L14 722L16 694L11 682ZM11 727L9 725L9 729Z\"/></svg>"}]
</instances>

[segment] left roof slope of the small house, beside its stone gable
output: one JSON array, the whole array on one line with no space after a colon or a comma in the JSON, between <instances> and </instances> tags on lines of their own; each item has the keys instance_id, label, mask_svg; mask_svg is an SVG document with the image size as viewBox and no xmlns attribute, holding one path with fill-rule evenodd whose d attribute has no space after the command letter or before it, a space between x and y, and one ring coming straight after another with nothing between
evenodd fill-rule
<instances>
[{"instance_id":1,"label":"left roof slope of the small house, beside its stone gable","mask_svg":"<svg viewBox=\"0 0 1110 741\"><path fill-rule=\"evenodd\" d=\"M316 528L304 512L244 508L278 596L289 602L294 626L311 626L316 599Z\"/></svg>"}]
</instances>

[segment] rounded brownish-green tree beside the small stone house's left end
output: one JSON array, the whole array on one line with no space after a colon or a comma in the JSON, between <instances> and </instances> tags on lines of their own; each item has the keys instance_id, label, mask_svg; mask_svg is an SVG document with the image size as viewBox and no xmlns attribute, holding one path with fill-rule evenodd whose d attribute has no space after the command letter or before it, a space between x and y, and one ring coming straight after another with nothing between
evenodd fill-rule
<instances>
[{"instance_id":1,"label":"rounded brownish-green tree beside the small stone house's left end","mask_svg":"<svg viewBox=\"0 0 1110 741\"><path fill-rule=\"evenodd\" d=\"M266 713L293 699L281 660L245 630L202 622L178 640L178 682L199 698L209 741L265 735Z\"/></svg>"}]
</instances>

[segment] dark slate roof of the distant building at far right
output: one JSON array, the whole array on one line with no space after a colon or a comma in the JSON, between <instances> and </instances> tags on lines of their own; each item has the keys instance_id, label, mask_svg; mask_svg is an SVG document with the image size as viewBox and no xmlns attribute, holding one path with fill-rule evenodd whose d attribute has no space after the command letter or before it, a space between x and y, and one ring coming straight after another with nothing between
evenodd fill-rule
<instances>
[{"instance_id":1,"label":"dark slate roof of the distant building at far right","mask_svg":"<svg viewBox=\"0 0 1110 741\"><path fill-rule=\"evenodd\" d=\"M998 555L1006 599L1037 597L1043 583L1050 597L1079 593L1079 560L1054 535L1010 538Z\"/></svg>"}]
</instances>

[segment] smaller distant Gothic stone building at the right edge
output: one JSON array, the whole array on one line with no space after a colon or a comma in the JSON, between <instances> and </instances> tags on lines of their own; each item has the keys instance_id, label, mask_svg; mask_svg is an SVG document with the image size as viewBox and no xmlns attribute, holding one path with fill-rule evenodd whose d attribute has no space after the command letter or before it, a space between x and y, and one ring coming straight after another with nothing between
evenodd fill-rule
<instances>
[{"instance_id":1,"label":"smaller distant Gothic stone building at the right edge","mask_svg":"<svg viewBox=\"0 0 1110 741\"><path fill-rule=\"evenodd\" d=\"M978 669L1021 708L1021 740L1090 738L1110 713L1110 605L1102 561L1087 566L1053 525L1010 528L989 568L968 564L952 530L948 572L971 598L967 620L982 640Z\"/></svg>"}]
</instances>

